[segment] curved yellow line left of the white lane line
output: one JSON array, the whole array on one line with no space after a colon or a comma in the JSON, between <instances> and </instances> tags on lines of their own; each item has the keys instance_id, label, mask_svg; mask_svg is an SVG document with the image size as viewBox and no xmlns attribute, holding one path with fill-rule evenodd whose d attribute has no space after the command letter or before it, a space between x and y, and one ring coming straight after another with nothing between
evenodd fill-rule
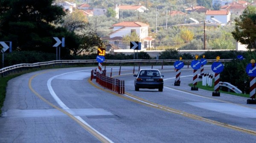
<instances>
[{"instance_id":1,"label":"curved yellow line left of the white lane line","mask_svg":"<svg viewBox=\"0 0 256 143\"><path fill-rule=\"evenodd\" d=\"M43 72L46 73L46 72ZM70 114L69 112L65 111L64 109L61 109L57 106L55 106L54 104L50 103L49 101L47 101L44 97L42 97L39 93L37 93L33 88L32 88L32 80L38 76L41 75L43 73L38 73L34 76L32 76L29 79L29 89L38 96L38 98L40 98L42 101L46 102L47 104L49 104L50 106L52 106L55 109L58 109L59 111L63 112L64 114L68 115L70 118L72 118L74 121L76 121L80 126L82 126L85 130L87 130L87 132L89 132L90 134L92 134L93 136L95 136L99 141L101 141L102 143L112 143L111 141L105 139L105 137L103 137L102 135L100 135L98 132L96 132L95 130L93 130L92 128L90 128L89 126L87 126L86 124L84 124L83 122L81 122L79 119L77 119L75 116L73 116L72 114Z\"/></svg>"}]
</instances>

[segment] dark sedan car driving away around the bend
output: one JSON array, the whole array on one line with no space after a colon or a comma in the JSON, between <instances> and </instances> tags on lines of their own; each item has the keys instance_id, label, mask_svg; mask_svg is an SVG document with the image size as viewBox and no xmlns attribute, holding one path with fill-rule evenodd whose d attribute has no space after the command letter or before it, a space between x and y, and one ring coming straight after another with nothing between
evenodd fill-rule
<instances>
[{"instance_id":1,"label":"dark sedan car driving away around the bend","mask_svg":"<svg viewBox=\"0 0 256 143\"><path fill-rule=\"evenodd\" d=\"M142 69L134 77L136 77L134 81L135 91L139 91L140 88L163 91L163 75L157 69Z\"/></svg>"}]
</instances>

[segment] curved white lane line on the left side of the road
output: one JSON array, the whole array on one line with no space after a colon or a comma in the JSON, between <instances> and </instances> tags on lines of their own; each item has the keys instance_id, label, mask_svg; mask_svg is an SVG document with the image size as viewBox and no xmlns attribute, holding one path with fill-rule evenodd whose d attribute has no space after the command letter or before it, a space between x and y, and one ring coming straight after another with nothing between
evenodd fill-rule
<instances>
[{"instance_id":1,"label":"curved white lane line on the left side of the road","mask_svg":"<svg viewBox=\"0 0 256 143\"><path fill-rule=\"evenodd\" d=\"M97 132L97 134L99 134L100 136L102 136L103 138L105 138L105 140L108 140L110 143L113 143L112 140L110 140L108 137L106 137L105 135L102 135L99 131L97 131L96 129L94 129L92 126L90 126L87 122L85 122L80 116L75 116L75 113L70 111L70 108L68 108L62 101L60 98L58 98L58 96L55 94L54 90L52 89L52 85L51 82L53 79L57 78L58 76L63 76L66 74L70 74L70 73L76 73L76 72L82 72L82 71L91 71L91 70L79 70L79 71L73 71L73 72L68 72L68 73L62 73L60 75L56 75L53 76L52 78L50 78L47 81L47 87L48 90L50 92L50 94L52 95L52 97L54 98L54 100L58 103L58 105L65 109L66 112L68 112L69 114L73 115L76 119L78 119L79 121L81 121L82 123L84 123L86 126L88 126L90 129L92 129L94 132Z\"/></svg>"}]
</instances>

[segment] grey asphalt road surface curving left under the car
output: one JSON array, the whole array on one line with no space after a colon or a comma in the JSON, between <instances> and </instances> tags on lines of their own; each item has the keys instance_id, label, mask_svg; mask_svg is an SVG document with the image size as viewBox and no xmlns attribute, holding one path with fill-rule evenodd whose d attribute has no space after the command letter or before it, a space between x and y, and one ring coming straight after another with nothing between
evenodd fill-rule
<instances>
[{"instance_id":1,"label":"grey asphalt road surface curving left under the car","mask_svg":"<svg viewBox=\"0 0 256 143\"><path fill-rule=\"evenodd\" d=\"M95 67L41 70L8 83L0 117L0 143L254 143L256 105L247 98L199 89L183 67L174 86L173 66L154 67L163 92L134 90L133 67L113 67L125 94L90 78ZM110 75L107 67L107 76ZM140 67L151 68L151 67ZM138 71L136 67L136 72ZM205 67L211 72L210 67Z\"/></svg>"}]
</instances>

